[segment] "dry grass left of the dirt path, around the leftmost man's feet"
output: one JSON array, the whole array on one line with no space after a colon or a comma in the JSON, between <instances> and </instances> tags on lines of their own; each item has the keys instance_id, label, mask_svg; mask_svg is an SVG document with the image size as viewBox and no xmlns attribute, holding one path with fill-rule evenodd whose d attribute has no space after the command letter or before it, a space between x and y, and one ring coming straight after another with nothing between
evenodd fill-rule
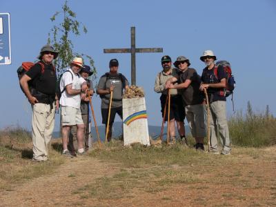
<instances>
[{"instance_id":1,"label":"dry grass left of the dirt path, around the leftmost man's feet","mask_svg":"<svg viewBox=\"0 0 276 207\"><path fill-rule=\"evenodd\" d=\"M21 128L2 130L0 132L0 189L10 190L14 184L55 170L63 163L63 158L56 149L50 147L49 161L33 162L30 133Z\"/></svg>"}]
</instances>

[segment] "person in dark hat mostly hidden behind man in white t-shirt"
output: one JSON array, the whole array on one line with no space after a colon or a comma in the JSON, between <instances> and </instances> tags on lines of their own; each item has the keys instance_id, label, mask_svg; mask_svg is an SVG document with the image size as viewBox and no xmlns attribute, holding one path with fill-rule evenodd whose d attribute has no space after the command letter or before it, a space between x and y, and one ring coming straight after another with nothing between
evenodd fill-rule
<instances>
[{"instance_id":1,"label":"person in dark hat mostly hidden behind man in white t-shirt","mask_svg":"<svg viewBox=\"0 0 276 207\"><path fill-rule=\"evenodd\" d=\"M87 86L89 90L86 91L86 97L81 100L81 117L84 124L84 148L85 150L88 150L89 148L89 136L91 136L91 132L89 129L89 123L90 123L90 112L89 112L89 98L88 93L90 96L94 94L93 90L93 83L89 79L89 77L93 74L91 71L90 66L83 65L83 68L81 68L81 71L79 72L81 77L86 80ZM72 126L70 129L70 135L69 135L69 144L68 144L68 150L71 152L72 155L75 155L75 149L77 149L77 126Z\"/></svg>"}]
</instances>

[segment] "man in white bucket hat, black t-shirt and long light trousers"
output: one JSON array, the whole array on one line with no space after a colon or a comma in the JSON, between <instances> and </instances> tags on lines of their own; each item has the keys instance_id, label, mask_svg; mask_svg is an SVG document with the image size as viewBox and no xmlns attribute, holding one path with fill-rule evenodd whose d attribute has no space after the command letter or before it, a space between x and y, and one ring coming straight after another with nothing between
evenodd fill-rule
<instances>
[{"instance_id":1,"label":"man in white bucket hat, black t-shirt and long light trousers","mask_svg":"<svg viewBox=\"0 0 276 207\"><path fill-rule=\"evenodd\" d=\"M200 89L207 90L208 101L210 105L210 152L219 154L217 144L217 133L223 145L221 155L230 155L230 137L226 119L226 97L224 89L226 88L227 74L222 66L217 68L215 75L215 60L217 57L212 50L204 51L200 60L206 64L201 75ZM207 111L206 111L207 114Z\"/></svg>"}]
</instances>

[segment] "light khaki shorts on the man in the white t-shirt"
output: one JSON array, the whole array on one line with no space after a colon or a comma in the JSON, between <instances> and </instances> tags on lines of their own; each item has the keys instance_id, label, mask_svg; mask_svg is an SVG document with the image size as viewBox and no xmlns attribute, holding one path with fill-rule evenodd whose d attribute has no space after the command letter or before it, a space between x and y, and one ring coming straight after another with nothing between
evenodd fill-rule
<instances>
[{"instance_id":1,"label":"light khaki shorts on the man in the white t-shirt","mask_svg":"<svg viewBox=\"0 0 276 207\"><path fill-rule=\"evenodd\" d=\"M81 110L72 106L61 106L61 126L83 124Z\"/></svg>"}]
</instances>

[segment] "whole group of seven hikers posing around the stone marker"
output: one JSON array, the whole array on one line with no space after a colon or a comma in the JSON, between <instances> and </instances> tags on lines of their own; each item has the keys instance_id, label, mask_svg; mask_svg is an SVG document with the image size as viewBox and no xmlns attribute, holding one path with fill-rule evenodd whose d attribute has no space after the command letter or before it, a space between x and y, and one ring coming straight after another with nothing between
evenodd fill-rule
<instances>
[{"instance_id":1,"label":"whole group of seven hikers posing around the stone marker","mask_svg":"<svg viewBox=\"0 0 276 207\"><path fill-rule=\"evenodd\" d=\"M94 94L90 66L83 65L81 57L75 57L68 68L57 79L53 65L59 52L46 45L41 48L39 61L25 71L20 78L20 86L32 106L32 143L33 161L48 160L48 144L52 138L55 126L55 111L61 110L61 139L63 152L66 157L84 155L90 148L90 128L88 123L89 103ZM204 61L201 77L190 61L184 56L177 57L173 63L168 55L161 58L163 70L155 79L155 92L160 92L161 112L164 121L169 121L170 143L174 144L175 121L180 139L187 145L184 119L186 117L190 131L195 137L195 148L204 150L206 126L204 112L207 113L204 90L208 92L210 103L210 152L230 155L230 138L226 120L226 72L223 67L216 66L216 56L211 50L204 51L200 57ZM97 94L101 97L102 124L106 126L107 140L112 139L112 124L115 115L122 119L123 91L129 87L128 80L118 72L119 61L111 59L109 72L99 79ZM214 72L214 70L217 70ZM170 117L168 111L168 92L170 93ZM110 95L112 104L110 106ZM169 118L169 120L168 120ZM109 120L108 120L109 119ZM221 138L222 150L219 152L217 134ZM77 141L76 141L77 140ZM77 143L77 144L76 144Z\"/></svg>"}]
</instances>

